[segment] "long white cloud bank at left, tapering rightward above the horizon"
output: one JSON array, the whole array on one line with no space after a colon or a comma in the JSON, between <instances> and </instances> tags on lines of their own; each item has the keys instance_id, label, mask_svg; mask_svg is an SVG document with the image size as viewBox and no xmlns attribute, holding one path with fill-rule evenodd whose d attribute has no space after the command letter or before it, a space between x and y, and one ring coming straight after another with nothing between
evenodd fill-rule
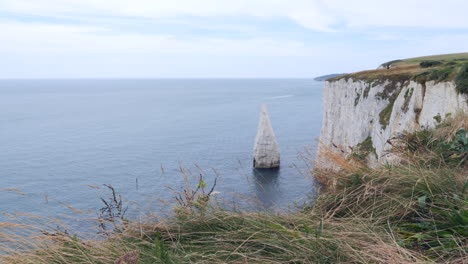
<instances>
[{"instance_id":1,"label":"long white cloud bank at left, tapering rightward above the horizon","mask_svg":"<svg viewBox=\"0 0 468 264\"><path fill-rule=\"evenodd\" d=\"M0 23L0 53L231 54L308 56L323 52L294 40L180 39L172 35L115 33L101 27Z\"/></svg>"}]
</instances>

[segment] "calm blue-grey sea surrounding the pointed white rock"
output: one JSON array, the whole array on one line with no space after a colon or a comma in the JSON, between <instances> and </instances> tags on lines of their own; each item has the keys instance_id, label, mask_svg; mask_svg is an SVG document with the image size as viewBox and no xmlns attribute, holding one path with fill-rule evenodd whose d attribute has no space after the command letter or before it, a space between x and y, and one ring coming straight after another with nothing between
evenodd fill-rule
<instances>
[{"instance_id":1,"label":"calm blue-grey sea surrounding the pointed white rock","mask_svg":"<svg viewBox=\"0 0 468 264\"><path fill-rule=\"evenodd\" d=\"M315 191L321 82L310 79L0 80L0 212L98 209L111 184L130 206L170 200L189 178L217 175L219 197L281 210ZM281 151L252 169L261 104Z\"/></svg>"}]
</instances>

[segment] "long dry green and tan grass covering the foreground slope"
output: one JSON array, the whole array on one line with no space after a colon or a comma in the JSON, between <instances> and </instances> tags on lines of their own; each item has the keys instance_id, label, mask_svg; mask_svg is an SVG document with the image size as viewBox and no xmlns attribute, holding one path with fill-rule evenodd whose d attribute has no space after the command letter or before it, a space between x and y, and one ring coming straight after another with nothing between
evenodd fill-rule
<instances>
[{"instance_id":1,"label":"long dry green and tan grass covering the foreground slope","mask_svg":"<svg viewBox=\"0 0 468 264\"><path fill-rule=\"evenodd\" d=\"M205 192L200 178L196 189L176 194L171 217L124 221L118 232L100 240L1 223L0 239L8 243L0 250L8 254L0 262L466 263L468 139L463 129L468 116L458 114L437 129L393 139L392 154L400 162L375 169L352 156L325 152L339 170L320 170L317 164L313 173L324 184L320 194L313 205L295 212L227 210ZM369 142L362 148L371 151ZM118 196L112 199L120 204ZM14 230L29 236L15 236Z\"/></svg>"}]
</instances>

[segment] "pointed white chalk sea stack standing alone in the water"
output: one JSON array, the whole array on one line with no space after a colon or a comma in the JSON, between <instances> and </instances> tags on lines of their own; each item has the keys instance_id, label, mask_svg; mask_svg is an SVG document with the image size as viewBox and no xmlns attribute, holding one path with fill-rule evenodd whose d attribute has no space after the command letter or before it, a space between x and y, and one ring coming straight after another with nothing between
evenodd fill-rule
<instances>
[{"instance_id":1,"label":"pointed white chalk sea stack standing alone in the water","mask_svg":"<svg viewBox=\"0 0 468 264\"><path fill-rule=\"evenodd\" d=\"M258 132L255 138L253 166L256 169L278 168L280 154L275 133L268 118L266 105L262 105Z\"/></svg>"}]
</instances>

